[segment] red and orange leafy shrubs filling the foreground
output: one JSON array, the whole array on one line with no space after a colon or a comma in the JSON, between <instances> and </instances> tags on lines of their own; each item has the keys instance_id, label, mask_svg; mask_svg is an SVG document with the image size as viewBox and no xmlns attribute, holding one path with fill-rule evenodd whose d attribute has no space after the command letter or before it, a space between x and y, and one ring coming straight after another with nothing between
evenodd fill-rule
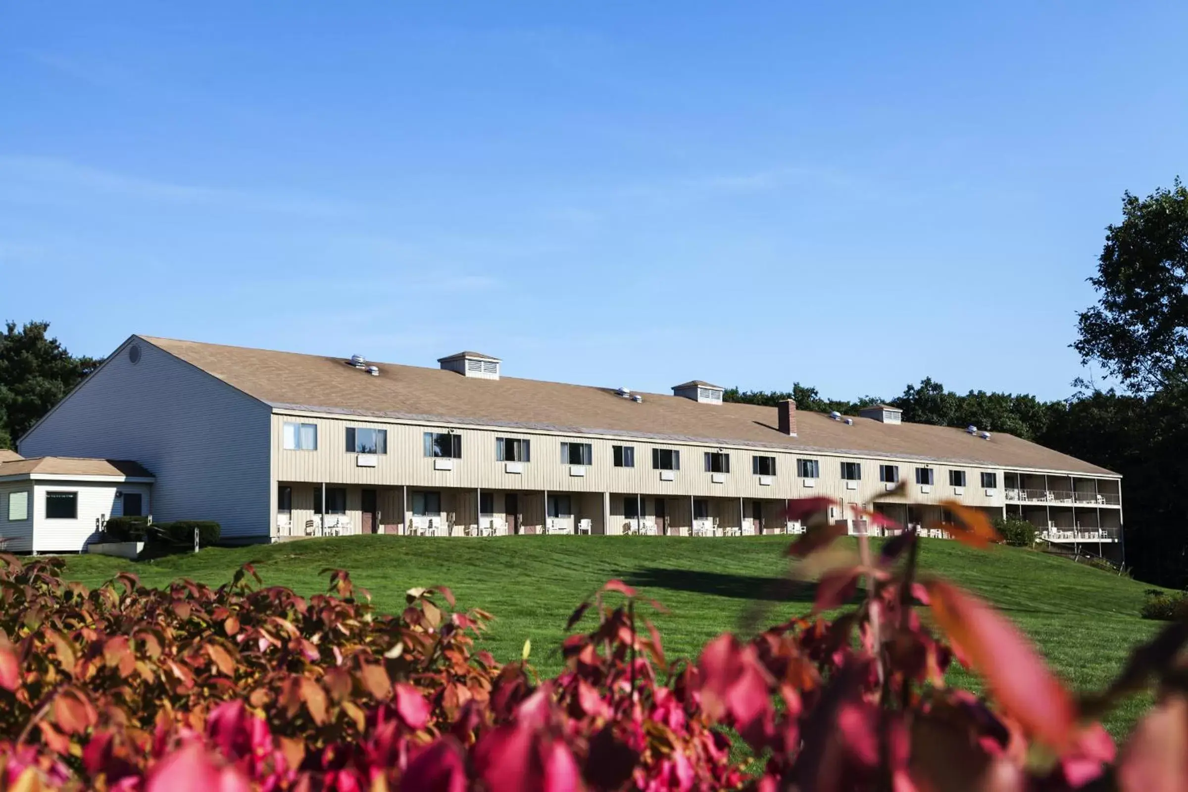
<instances>
[{"instance_id":1,"label":"red and orange leafy shrubs filling the foreground","mask_svg":"<svg viewBox=\"0 0 1188 792\"><path fill-rule=\"evenodd\" d=\"M950 511L936 527L996 539L978 512ZM575 610L567 627L590 632L565 639L551 679L475 651L489 616L444 588L381 615L341 570L309 598L251 566L219 589L120 575L88 590L61 562L0 556L0 790L1188 788L1188 623L1076 698L1006 619L917 570L915 532L878 555L865 537L840 550L839 533L789 549L794 574L820 581L816 613L862 584L833 621L726 634L696 664L670 661L637 614L659 606L611 581ZM946 686L953 661L987 698ZM1157 705L1116 756L1093 718L1151 678Z\"/></svg>"}]
</instances>

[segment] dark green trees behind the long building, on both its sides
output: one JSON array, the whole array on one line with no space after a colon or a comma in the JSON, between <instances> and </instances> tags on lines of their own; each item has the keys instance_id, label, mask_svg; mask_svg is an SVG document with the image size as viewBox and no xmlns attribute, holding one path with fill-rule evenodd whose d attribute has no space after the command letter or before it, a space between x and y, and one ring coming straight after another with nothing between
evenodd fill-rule
<instances>
[{"instance_id":1,"label":"dark green trees behind the long building, on both its sides","mask_svg":"<svg viewBox=\"0 0 1188 792\"><path fill-rule=\"evenodd\" d=\"M939 426L973 424L1041 443L1124 476L1126 559L1136 577L1183 588L1188 583L1188 189L1180 179L1139 198L1123 196L1123 218L1106 242L1089 283L1098 303L1078 317L1072 347L1105 368L1120 389L1082 381L1068 399L948 391L925 378L889 403L904 420ZM12 448L99 360L74 356L48 335L49 323L0 336L0 448ZM814 387L788 392L731 388L729 401L854 414L881 399L826 399Z\"/></svg>"}]
</instances>

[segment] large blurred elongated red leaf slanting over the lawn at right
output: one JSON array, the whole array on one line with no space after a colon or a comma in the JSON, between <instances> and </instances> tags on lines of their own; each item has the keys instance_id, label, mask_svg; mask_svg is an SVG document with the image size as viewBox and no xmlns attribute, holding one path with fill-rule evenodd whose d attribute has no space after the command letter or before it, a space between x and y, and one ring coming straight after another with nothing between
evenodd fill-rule
<instances>
[{"instance_id":1,"label":"large blurred elongated red leaf slanting over the lawn at right","mask_svg":"<svg viewBox=\"0 0 1188 792\"><path fill-rule=\"evenodd\" d=\"M925 588L937 623L986 678L1003 709L1041 742L1066 749L1074 737L1076 708L1031 644L972 594L943 581L930 581Z\"/></svg>"}]
</instances>

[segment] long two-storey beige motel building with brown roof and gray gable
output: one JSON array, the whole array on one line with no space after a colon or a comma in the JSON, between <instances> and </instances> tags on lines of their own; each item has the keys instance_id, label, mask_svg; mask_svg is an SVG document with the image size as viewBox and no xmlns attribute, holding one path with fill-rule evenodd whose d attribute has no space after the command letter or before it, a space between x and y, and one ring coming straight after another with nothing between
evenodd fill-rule
<instances>
[{"instance_id":1,"label":"long two-storey beige motel building with brown roof and gray gable","mask_svg":"<svg viewBox=\"0 0 1188 792\"><path fill-rule=\"evenodd\" d=\"M20 438L24 461L0 461L0 537L15 525L11 501L33 538L10 550L83 550L97 536L80 538L91 517L76 508L67 530L49 515L102 483L103 498L87 501L105 509L96 528L134 508L217 520L225 541L244 543L785 533L801 527L788 501L815 495L834 499L829 518L855 532L866 525L851 505L927 526L955 500L1030 520L1050 541L1120 539L1118 474L1010 435L910 424L889 405L847 417L726 403L701 380L636 393L505 376L501 360L475 351L437 362L134 335ZM17 465L36 479L30 460L137 475L5 475ZM892 494L901 481L906 495Z\"/></svg>"}]
</instances>

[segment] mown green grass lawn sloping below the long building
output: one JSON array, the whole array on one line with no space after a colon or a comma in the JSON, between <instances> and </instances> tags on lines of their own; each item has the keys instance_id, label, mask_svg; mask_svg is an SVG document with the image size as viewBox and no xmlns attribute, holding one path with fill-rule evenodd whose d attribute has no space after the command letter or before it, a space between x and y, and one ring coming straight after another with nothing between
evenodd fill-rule
<instances>
[{"instance_id":1,"label":"mown green grass lawn sloping below the long building","mask_svg":"<svg viewBox=\"0 0 1188 792\"><path fill-rule=\"evenodd\" d=\"M461 607L495 616L486 647L498 659L518 658L532 640L543 672L560 667L556 647L574 607L602 582L618 577L671 612L656 619L670 657L695 657L707 640L732 629L753 600L770 607L764 623L809 610L808 596L777 601L772 585L786 568L783 537L687 539L649 537L506 537L449 540L385 536L310 539L270 546L208 549L156 562L102 556L68 558L71 579L95 585L131 570L147 585L178 577L219 584L245 562L266 584L302 594L323 591L326 566L348 569L386 612L404 606L413 585L450 587ZM1127 650L1157 628L1138 617L1143 590L1126 578L1042 553L998 547L974 551L954 541L923 540L923 569L990 598L1040 645L1072 686L1104 686ZM977 688L960 670L955 684ZM1145 699L1129 702L1107 721L1125 733Z\"/></svg>"}]
</instances>

